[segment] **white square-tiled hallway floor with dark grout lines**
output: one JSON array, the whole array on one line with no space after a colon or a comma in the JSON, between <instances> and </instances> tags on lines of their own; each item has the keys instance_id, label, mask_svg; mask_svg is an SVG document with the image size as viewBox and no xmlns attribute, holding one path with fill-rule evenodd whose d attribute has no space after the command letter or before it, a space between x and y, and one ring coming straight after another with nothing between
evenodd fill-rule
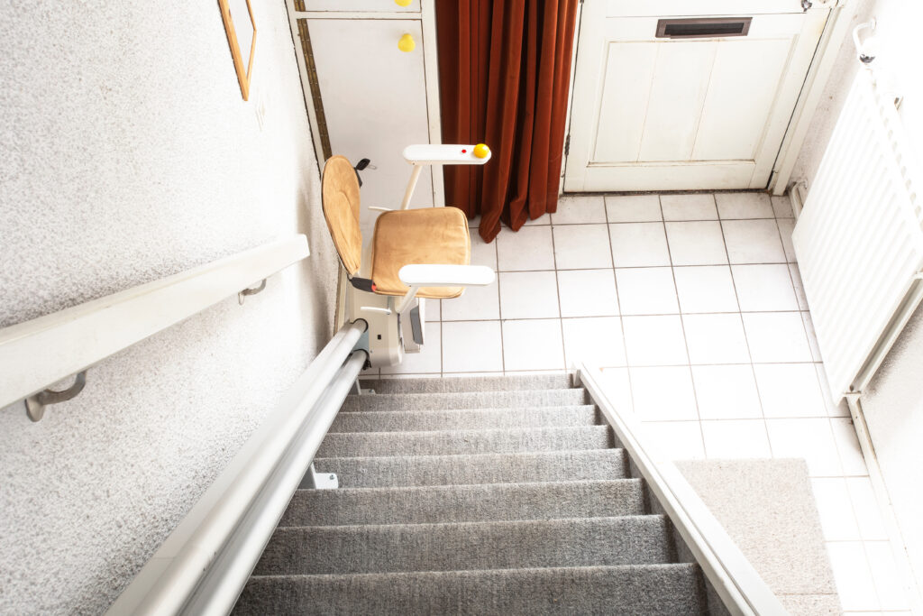
<instances>
[{"instance_id":1,"label":"white square-tiled hallway floor with dark grout lines","mask_svg":"<svg viewBox=\"0 0 923 616\"><path fill-rule=\"evenodd\" d=\"M824 394L793 228L787 199L718 193L566 197L492 244L473 229L497 284L444 300L393 371L582 359L677 459L805 458L845 610L908 610L852 421Z\"/></svg>"}]
</instances>

